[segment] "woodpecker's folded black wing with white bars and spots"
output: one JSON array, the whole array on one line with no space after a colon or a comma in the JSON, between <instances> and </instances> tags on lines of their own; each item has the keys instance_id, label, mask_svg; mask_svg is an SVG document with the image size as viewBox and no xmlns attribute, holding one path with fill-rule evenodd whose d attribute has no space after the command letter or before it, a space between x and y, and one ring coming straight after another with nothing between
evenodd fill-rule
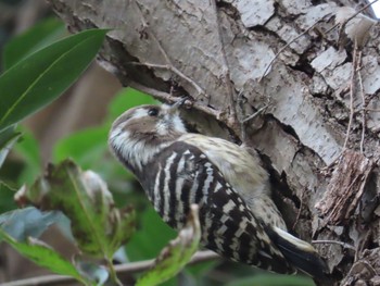
<instances>
[{"instance_id":1,"label":"woodpecker's folded black wing with white bars and spots","mask_svg":"<svg viewBox=\"0 0 380 286\"><path fill-rule=\"evenodd\" d=\"M152 165L142 185L163 220L179 228L191 203L200 206L203 245L217 253L279 273L293 272L259 217L198 147L176 141ZM268 209L270 214L270 209Z\"/></svg>"}]
</instances>

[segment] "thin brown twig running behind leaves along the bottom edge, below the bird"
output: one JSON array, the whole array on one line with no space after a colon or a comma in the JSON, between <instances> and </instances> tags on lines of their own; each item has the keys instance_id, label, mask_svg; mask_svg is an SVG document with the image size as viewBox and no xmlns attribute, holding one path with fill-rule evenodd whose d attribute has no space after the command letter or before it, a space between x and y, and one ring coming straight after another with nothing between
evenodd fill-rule
<instances>
[{"instance_id":1,"label":"thin brown twig running behind leaves along the bottom edge, below the bird","mask_svg":"<svg viewBox=\"0 0 380 286\"><path fill-rule=\"evenodd\" d=\"M220 258L218 254L210 250L198 251L192 257L189 264L197 264L200 262L215 260L218 258ZM116 273L123 273L123 274L132 274L137 272L147 271L154 265L154 261L155 261L154 259L151 259L151 260L115 265L115 271ZM75 282L75 279L71 276L45 275L45 276L31 277L31 278L20 279L20 281L5 282L5 283L2 283L1 286L42 286L42 285L53 286L53 285L63 285L67 283L73 283L73 282Z\"/></svg>"}]
</instances>

